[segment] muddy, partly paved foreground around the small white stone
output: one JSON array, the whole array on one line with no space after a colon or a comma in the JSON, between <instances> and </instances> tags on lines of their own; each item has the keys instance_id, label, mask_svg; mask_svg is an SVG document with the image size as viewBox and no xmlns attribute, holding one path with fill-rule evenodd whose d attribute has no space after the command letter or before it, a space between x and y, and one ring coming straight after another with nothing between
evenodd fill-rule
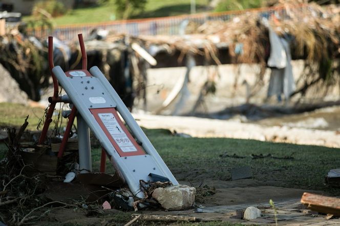
<instances>
[{"instance_id":1,"label":"muddy, partly paved foreground around the small white stone","mask_svg":"<svg viewBox=\"0 0 340 226\"><path fill-rule=\"evenodd\" d=\"M202 175L208 178L208 174ZM188 184L187 182L180 182ZM191 222L189 225L238 225L240 223L260 225L275 224L273 211L268 201L269 197L275 200L279 211L280 225L302 225L306 222L324 225L325 216L302 213L303 207L299 199L308 190L278 187L278 183L264 183L258 180L241 179L236 181L206 180L206 184L216 188L216 194L206 197L203 203L197 202L195 208L184 211L141 210L137 212L124 212L120 210L104 210L89 214L84 208L53 208L49 214L35 222L37 225L125 225L134 218L134 215L172 215L179 217L196 217L199 222ZM76 191L76 192L75 192ZM322 193L309 191L313 193ZM69 202L81 200L87 191L78 182L73 184L53 183L50 188L41 195L53 200ZM90 206L90 205L89 205ZM248 206L256 206L263 213L262 218L246 221L241 219L244 210ZM48 209L42 209L40 213ZM281 211L281 212L280 212ZM340 223L338 219L331 219L327 224ZM179 225L181 221L161 222L149 220L137 220L132 225ZM187 225L187 224L185 224Z\"/></svg>"}]
</instances>

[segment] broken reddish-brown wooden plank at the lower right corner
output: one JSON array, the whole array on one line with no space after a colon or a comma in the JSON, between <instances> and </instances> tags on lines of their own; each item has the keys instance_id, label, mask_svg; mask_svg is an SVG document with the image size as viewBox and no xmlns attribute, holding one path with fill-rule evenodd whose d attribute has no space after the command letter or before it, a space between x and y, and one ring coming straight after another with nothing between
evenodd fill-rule
<instances>
[{"instance_id":1,"label":"broken reddish-brown wooden plank at the lower right corner","mask_svg":"<svg viewBox=\"0 0 340 226\"><path fill-rule=\"evenodd\" d=\"M310 210L340 216L340 198L305 192L302 195L301 203L307 205L307 208Z\"/></svg>"}]
</instances>

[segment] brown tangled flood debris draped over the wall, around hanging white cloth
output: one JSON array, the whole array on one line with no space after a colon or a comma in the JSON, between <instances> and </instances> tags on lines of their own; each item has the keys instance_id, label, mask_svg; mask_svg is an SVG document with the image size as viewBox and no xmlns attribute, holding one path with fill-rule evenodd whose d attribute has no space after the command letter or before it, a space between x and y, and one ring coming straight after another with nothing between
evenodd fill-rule
<instances>
[{"instance_id":1,"label":"brown tangled flood debris draped over the wall, around hanging white cloth","mask_svg":"<svg viewBox=\"0 0 340 226\"><path fill-rule=\"evenodd\" d=\"M306 94L313 84L331 85L339 82L340 74L340 8L330 5L323 8L307 1L279 1L275 13L249 11L231 16L227 21L193 20L187 34L182 36L130 37L157 59L157 67L165 66L164 55L175 56L180 66L188 55L194 55L196 65L221 63L259 63L261 70L252 87L256 92L263 84L263 76L270 55L269 30L290 43L292 59L305 59L300 87L291 96ZM117 35L107 38L116 40ZM167 66L172 62L166 58Z\"/></svg>"}]
</instances>

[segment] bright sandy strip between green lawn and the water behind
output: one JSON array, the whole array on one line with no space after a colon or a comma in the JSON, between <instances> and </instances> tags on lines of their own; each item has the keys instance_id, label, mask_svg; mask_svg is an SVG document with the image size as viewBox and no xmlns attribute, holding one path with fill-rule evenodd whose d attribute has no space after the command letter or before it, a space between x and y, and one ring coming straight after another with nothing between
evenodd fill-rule
<instances>
[{"instance_id":1,"label":"bright sandy strip between green lawn and the water behind","mask_svg":"<svg viewBox=\"0 0 340 226\"><path fill-rule=\"evenodd\" d=\"M192 137L220 137L287 142L293 144L340 147L340 133L289 126L262 126L251 123L181 116L134 114L138 124L146 128L164 128Z\"/></svg>"}]
</instances>

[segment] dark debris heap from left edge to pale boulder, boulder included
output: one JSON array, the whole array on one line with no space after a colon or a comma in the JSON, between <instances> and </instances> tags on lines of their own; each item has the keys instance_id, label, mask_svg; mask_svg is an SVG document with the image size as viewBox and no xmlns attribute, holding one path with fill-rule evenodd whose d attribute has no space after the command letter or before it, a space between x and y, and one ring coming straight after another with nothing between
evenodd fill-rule
<instances>
[{"instance_id":1,"label":"dark debris heap from left edge to pale boulder, boulder included","mask_svg":"<svg viewBox=\"0 0 340 226\"><path fill-rule=\"evenodd\" d=\"M57 161L56 152L53 152L51 144L35 145L31 140L26 141L27 119L28 117L19 130L7 129L8 138L5 143L8 151L0 162L0 170L3 172L0 175L0 222L9 225L38 222L49 212L60 207L78 209L85 216L97 216L103 214L103 209L111 207L124 211L174 210L171 208L172 205L176 206L177 210L182 210L194 205L195 188L189 186L179 188L167 181L140 180L140 192L145 195L141 199L133 195L117 176L93 172L79 174L79 166L74 171L77 174L76 179L69 184L72 179L66 181L64 177L71 168L76 168L74 165L79 162L78 155L71 151ZM169 192L167 189L170 189L176 194L169 196L167 200L160 200L158 197L162 194L164 196L165 193L159 189L164 189L165 192ZM76 196L71 198L69 193L76 193ZM158 197L155 193L158 193ZM84 196L80 198L80 195Z\"/></svg>"}]
</instances>

